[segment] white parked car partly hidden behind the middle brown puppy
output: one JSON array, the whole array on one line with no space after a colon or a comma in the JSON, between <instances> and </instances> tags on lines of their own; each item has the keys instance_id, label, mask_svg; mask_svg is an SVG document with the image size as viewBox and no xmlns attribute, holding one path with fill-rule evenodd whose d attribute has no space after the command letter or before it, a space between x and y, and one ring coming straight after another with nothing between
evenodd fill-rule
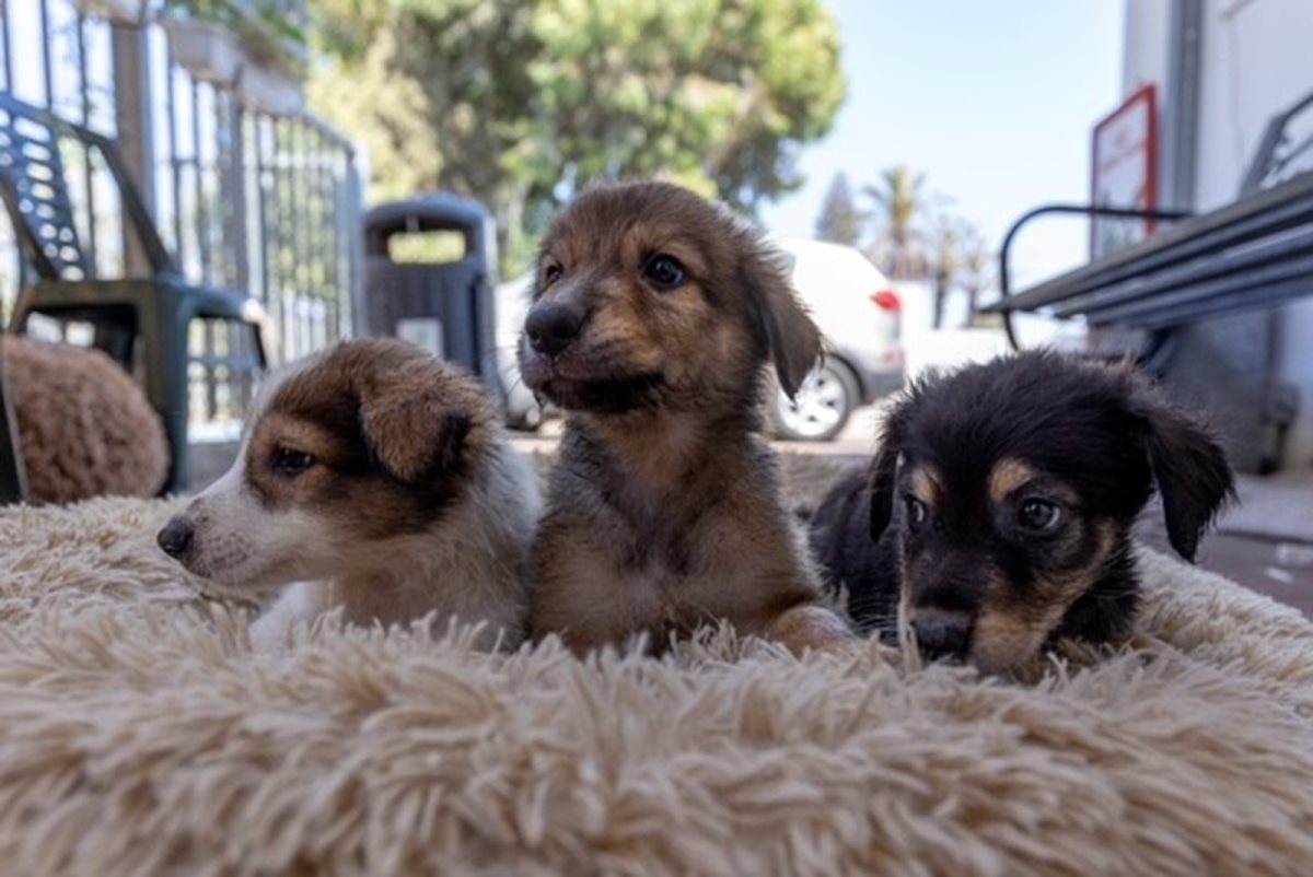
<instances>
[{"instance_id":1,"label":"white parked car partly hidden behind the middle brown puppy","mask_svg":"<svg viewBox=\"0 0 1313 877\"><path fill-rule=\"evenodd\" d=\"M793 286L826 336L826 358L792 402L783 393L772 394L767 414L781 438L827 441L839 435L853 408L902 386L902 302L885 276L852 247L804 239L775 243L789 257ZM524 274L496 289L496 356L507 387L507 421L534 429L544 412L520 379L516 362L530 280Z\"/></svg>"}]
</instances>

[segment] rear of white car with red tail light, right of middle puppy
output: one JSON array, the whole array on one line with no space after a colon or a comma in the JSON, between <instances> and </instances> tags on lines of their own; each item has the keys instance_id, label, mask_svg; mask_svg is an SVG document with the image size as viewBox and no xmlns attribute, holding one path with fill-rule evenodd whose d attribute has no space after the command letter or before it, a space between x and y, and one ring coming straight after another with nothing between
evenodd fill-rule
<instances>
[{"instance_id":1,"label":"rear of white car with red tail light, right of middle puppy","mask_svg":"<svg viewBox=\"0 0 1313 877\"><path fill-rule=\"evenodd\" d=\"M771 421L781 438L827 441L853 408L902 386L902 299L852 247L801 238L775 243L792 261L793 286L826 337L826 357L796 399L776 393Z\"/></svg>"}]
</instances>

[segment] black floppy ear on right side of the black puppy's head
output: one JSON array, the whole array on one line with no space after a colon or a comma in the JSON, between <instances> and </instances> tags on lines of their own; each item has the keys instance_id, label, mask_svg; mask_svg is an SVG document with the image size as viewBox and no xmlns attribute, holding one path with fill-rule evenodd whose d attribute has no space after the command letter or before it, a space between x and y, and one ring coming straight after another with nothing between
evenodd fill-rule
<instances>
[{"instance_id":1,"label":"black floppy ear on right side of the black puppy's head","mask_svg":"<svg viewBox=\"0 0 1313 877\"><path fill-rule=\"evenodd\" d=\"M1132 408L1145 424L1145 453L1162 498L1167 540L1176 554L1194 561L1213 516L1236 499L1236 478L1207 427L1175 410L1142 378L1136 383Z\"/></svg>"}]
</instances>

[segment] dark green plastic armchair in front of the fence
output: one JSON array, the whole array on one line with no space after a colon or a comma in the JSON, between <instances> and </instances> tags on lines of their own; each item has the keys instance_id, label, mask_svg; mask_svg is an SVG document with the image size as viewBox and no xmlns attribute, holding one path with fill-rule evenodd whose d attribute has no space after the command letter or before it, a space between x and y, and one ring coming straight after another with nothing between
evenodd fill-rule
<instances>
[{"instance_id":1,"label":"dark green plastic armchair in front of the fence","mask_svg":"<svg viewBox=\"0 0 1313 877\"><path fill-rule=\"evenodd\" d=\"M123 225L144 251L150 276L96 276L95 260L80 246L60 155L62 143L70 140L101 155L118 189ZM8 331L25 332L33 314L89 323L96 347L130 373L139 364L146 395L164 423L172 454L164 490L185 490L190 323L228 320L246 327L246 340L225 365L234 373L253 373L267 364L260 307L239 291L185 280L112 139L7 92L0 92L0 198L13 221L24 260L35 273L32 282L22 285ZM12 425L12 420L5 424L8 432L13 432ZM20 483L17 477L9 481Z\"/></svg>"}]
</instances>

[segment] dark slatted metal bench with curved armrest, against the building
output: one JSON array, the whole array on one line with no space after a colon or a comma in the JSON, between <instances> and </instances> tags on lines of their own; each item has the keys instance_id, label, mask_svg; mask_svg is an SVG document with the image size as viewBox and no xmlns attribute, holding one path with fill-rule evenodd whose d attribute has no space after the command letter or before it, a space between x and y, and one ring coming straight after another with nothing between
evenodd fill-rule
<instances>
[{"instance_id":1,"label":"dark slatted metal bench with curved armrest, against the building","mask_svg":"<svg viewBox=\"0 0 1313 877\"><path fill-rule=\"evenodd\" d=\"M1170 353L1173 330L1224 314L1264 309L1313 294L1313 137L1292 125L1313 117L1313 95L1271 119L1241 185L1239 198L1191 215L1098 205L1045 205L1018 219L999 253L1002 298L979 309L999 314L1014 347L1012 314L1083 316L1094 330L1133 330L1146 362ZM1016 234L1049 214L1145 218L1173 225L1148 240L1024 291L1011 289Z\"/></svg>"}]
</instances>

